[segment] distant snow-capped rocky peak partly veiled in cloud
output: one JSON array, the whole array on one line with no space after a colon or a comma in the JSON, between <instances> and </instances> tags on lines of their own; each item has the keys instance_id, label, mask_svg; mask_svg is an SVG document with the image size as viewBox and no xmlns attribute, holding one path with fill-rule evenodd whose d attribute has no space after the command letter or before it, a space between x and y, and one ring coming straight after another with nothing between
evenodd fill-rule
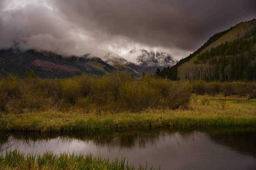
<instances>
[{"instance_id":1,"label":"distant snow-capped rocky peak partly veiled in cloud","mask_svg":"<svg viewBox=\"0 0 256 170\"><path fill-rule=\"evenodd\" d=\"M163 53L159 50L147 51L145 49L135 48L129 51L125 58L130 58L133 63L138 65L142 70L152 70L172 66L176 62L172 55Z\"/></svg>"}]
</instances>

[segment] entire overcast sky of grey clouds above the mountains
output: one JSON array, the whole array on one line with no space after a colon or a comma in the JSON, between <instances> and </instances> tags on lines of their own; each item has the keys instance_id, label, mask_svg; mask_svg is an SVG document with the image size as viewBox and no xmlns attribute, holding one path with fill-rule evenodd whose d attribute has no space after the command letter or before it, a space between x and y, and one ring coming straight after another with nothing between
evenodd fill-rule
<instances>
[{"instance_id":1,"label":"entire overcast sky of grey clouds above the mountains","mask_svg":"<svg viewBox=\"0 0 256 170\"><path fill-rule=\"evenodd\" d=\"M0 0L0 49L124 56L144 48L178 60L253 18L255 0Z\"/></svg>"}]
</instances>

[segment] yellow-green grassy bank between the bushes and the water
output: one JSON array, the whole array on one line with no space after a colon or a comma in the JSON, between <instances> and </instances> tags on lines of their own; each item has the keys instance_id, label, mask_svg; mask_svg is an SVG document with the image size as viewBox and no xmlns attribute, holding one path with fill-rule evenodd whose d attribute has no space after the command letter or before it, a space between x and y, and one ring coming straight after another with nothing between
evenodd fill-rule
<instances>
[{"instance_id":1,"label":"yellow-green grassy bank between the bushes and the water","mask_svg":"<svg viewBox=\"0 0 256 170\"><path fill-rule=\"evenodd\" d=\"M145 109L140 112L90 110L72 107L66 111L6 113L0 118L2 131L86 131L144 127L256 126L256 100L223 96L194 96L189 108Z\"/></svg>"}]
</instances>

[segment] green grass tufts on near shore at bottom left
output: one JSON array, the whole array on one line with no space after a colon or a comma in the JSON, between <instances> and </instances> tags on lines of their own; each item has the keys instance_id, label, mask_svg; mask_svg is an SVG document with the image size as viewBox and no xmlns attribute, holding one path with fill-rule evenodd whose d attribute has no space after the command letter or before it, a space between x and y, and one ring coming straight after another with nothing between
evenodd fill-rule
<instances>
[{"instance_id":1,"label":"green grass tufts on near shore at bottom left","mask_svg":"<svg viewBox=\"0 0 256 170\"><path fill-rule=\"evenodd\" d=\"M24 154L17 150L8 151L5 155L0 155L0 169L88 169L88 170L144 170L147 167L139 166L134 168L127 163L126 158L110 161L92 155L77 155L69 153L54 154L45 152L44 154Z\"/></svg>"}]
</instances>

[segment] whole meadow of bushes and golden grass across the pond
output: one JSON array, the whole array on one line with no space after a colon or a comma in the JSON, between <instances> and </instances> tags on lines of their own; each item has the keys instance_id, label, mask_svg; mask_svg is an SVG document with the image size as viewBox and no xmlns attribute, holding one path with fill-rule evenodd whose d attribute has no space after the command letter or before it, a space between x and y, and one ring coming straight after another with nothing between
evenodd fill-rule
<instances>
[{"instance_id":1,"label":"whole meadow of bushes and golden grass across the pond","mask_svg":"<svg viewBox=\"0 0 256 170\"><path fill-rule=\"evenodd\" d=\"M0 81L2 131L91 131L256 125L255 82L102 77Z\"/></svg>"}]
</instances>

